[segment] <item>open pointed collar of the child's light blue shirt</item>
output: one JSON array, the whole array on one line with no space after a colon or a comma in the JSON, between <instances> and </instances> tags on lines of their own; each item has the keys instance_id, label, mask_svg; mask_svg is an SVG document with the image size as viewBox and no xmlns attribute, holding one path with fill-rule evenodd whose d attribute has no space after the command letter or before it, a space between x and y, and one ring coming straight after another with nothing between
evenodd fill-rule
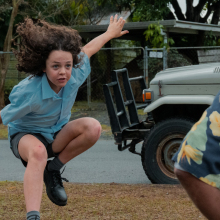
<instances>
[{"instance_id":1,"label":"open pointed collar of the child's light blue shirt","mask_svg":"<svg viewBox=\"0 0 220 220\"><path fill-rule=\"evenodd\" d=\"M68 90L66 87L68 87L68 88L72 87L72 85L75 83L76 83L76 80L71 75L69 81L67 82L67 84L64 87L64 91ZM56 95L56 93L53 91L53 89L51 89L50 84L47 79L47 75L46 75L46 73L44 73L44 75L42 76L42 98L49 99L49 98L53 98L54 95Z\"/></svg>"}]
</instances>

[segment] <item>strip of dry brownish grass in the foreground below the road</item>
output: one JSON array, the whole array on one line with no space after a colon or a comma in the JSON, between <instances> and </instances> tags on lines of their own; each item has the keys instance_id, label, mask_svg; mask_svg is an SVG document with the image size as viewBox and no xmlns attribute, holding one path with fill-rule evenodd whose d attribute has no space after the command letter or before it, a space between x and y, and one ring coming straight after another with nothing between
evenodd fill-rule
<instances>
[{"instance_id":1,"label":"strip of dry brownish grass in the foreground below the road","mask_svg":"<svg viewBox=\"0 0 220 220\"><path fill-rule=\"evenodd\" d=\"M64 184L65 207L54 205L45 188L43 220L150 220L205 219L179 185ZM21 182L0 182L0 219L25 219Z\"/></svg>"}]
</instances>

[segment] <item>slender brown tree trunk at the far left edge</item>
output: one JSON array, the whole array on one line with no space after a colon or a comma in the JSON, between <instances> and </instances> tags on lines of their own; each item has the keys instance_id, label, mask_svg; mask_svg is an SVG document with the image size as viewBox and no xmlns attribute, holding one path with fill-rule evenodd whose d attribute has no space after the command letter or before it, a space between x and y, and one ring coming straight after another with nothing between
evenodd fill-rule
<instances>
[{"instance_id":1,"label":"slender brown tree trunk at the far left edge","mask_svg":"<svg viewBox=\"0 0 220 220\"><path fill-rule=\"evenodd\" d=\"M12 0L13 9L11 12L11 18L8 26L8 32L5 37L5 42L3 46L3 52L9 52L11 50L11 40L12 40L12 32L13 32L13 24L15 17L18 13L18 7L21 4L21 0ZM4 86L5 86L5 77L7 74L7 69L10 61L10 54L2 54L0 56L0 109L2 109L5 106L4 101Z\"/></svg>"}]
</instances>

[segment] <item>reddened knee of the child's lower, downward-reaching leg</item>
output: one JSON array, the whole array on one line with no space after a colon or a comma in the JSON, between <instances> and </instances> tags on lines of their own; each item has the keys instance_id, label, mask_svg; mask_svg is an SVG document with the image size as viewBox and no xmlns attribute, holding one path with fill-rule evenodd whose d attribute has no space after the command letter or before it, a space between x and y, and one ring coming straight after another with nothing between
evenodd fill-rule
<instances>
[{"instance_id":1,"label":"reddened knee of the child's lower, downward-reaching leg","mask_svg":"<svg viewBox=\"0 0 220 220\"><path fill-rule=\"evenodd\" d=\"M30 153L29 160L47 163L47 151L43 144L35 145Z\"/></svg>"}]
</instances>

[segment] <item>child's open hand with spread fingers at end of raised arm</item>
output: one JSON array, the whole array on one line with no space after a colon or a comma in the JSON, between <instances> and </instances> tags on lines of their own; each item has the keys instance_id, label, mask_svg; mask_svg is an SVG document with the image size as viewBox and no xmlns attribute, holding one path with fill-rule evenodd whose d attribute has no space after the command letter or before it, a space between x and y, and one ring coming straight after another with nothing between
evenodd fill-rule
<instances>
[{"instance_id":1,"label":"child's open hand with spread fingers at end of raised arm","mask_svg":"<svg viewBox=\"0 0 220 220\"><path fill-rule=\"evenodd\" d=\"M118 19L118 15L115 15L115 17L111 16L110 18L110 24L108 26L108 29L106 31L106 34L110 36L110 38L117 38L121 37L124 34L129 33L129 31L122 31L125 24L125 20L120 17Z\"/></svg>"}]
</instances>

